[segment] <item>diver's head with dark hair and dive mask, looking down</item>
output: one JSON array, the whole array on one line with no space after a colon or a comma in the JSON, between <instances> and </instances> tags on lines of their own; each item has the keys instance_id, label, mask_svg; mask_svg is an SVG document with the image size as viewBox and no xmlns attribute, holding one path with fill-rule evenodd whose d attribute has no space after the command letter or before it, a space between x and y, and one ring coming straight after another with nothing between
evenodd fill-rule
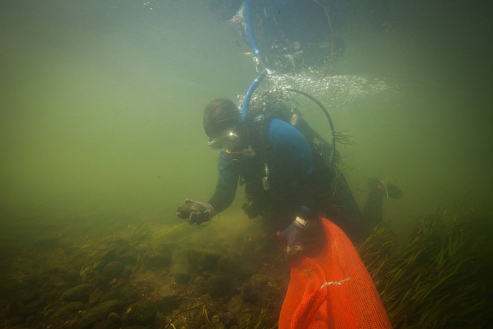
<instances>
[{"instance_id":1,"label":"diver's head with dark hair and dive mask, looking down","mask_svg":"<svg viewBox=\"0 0 493 329\"><path fill-rule=\"evenodd\" d=\"M241 112L233 101L218 98L205 106L204 131L209 136L209 147L233 150L239 144L238 127Z\"/></svg>"}]
</instances>

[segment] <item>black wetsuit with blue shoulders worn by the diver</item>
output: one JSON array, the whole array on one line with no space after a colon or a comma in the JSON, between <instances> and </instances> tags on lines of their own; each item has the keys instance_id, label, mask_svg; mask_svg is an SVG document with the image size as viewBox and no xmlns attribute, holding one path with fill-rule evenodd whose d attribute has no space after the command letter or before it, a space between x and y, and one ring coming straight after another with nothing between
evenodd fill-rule
<instances>
[{"instance_id":1,"label":"black wetsuit with blue shoulders worn by the diver","mask_svg":"<svg viewBox=\"0 0 493 329\"><path fill-rule=\"evenodd\" d=\"M303 205L337 224L353 241L359 240L361 213L343 175L334 188L334 172L315 145L285 121L272 119L266 124L264 142L255 141L252 130L245 128L248 137L239 153L220 152L216 191L208 204L217 212L229 207L239 182L245 185L245 213L250 218L262 216L273 232L289 226Z\"/></svg>"}]
</instances>

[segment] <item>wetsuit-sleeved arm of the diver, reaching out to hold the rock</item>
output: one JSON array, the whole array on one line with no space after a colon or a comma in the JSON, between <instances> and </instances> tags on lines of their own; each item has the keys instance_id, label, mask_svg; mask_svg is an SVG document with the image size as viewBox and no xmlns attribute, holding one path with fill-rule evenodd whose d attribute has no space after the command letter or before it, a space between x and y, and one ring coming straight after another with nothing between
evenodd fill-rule
<instances>
[{"instance_id":1,"label":"wetsuit-sleeved arm of the diver, reaching out to hold the rock","mask_svg":"<svg viewBox=\"0 0 493 329\"><path fill-rule=\"evenodd\" d=\"M216 212L224 211L233 203L233 200L235 199L239 174L233 168L227 168L229 160L229 157L226 155L219 154L219 175L217 179L216 191L207 202L214 207Z\"/></svg>"}]
</instances>

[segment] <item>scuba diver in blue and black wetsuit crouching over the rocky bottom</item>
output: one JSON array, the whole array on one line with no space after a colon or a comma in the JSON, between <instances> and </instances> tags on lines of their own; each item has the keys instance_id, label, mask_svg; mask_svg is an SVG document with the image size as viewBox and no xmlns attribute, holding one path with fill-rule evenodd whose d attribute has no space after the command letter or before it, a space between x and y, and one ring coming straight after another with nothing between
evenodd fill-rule
<instances>
[{"instance_id":1,"label":"scuba diver in blue and black wetsuit crouching over the rocky bottom","mask_svg":"<svg viewBox=\"0 0 493 329\"><path fill-rule=\"evenodd\" d=\"M248 106L247 97L245 102ZM370 178L360 212L334 166L335 142L316 143L323 138L283 100L282 92L257 97L247 116L233 101L215 99L205 106L203 126L208 146L219 151L219 174L210 200L185 199L178 208L177 216L189 224L201 225L228 208L239 184L245 186L245 214L261 216L264 229L277 232L288 250L316 238L317 215L329 218L358 243L382 221L384 196L402 196L396 186Z\"/></svg>"}]
</instances>

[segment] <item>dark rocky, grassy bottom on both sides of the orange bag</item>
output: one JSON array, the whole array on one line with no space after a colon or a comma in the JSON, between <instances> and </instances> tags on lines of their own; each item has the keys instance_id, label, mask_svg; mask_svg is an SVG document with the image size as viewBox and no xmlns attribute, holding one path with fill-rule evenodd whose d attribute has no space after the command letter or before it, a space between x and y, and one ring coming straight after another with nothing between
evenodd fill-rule
<instances>
[{"instance_id":1,"label":"dark rocky, grassy bottom on both sides of the orange bag","mask_svg":"<svg viewBox=\"0 0 493 329\"><path fill-rule=\"evenodd\" d=\"M492 219L460 200L421 218L406 242L383 224L358 246L394 328L488 326ZM194 228L188 224L149 222L86 228L84 236L68 228L4 253L0 323L277 328L289 283L279 246L265 245L261 232L241 241L189 244L184 236Z\"/></svg>"}]
</instances>

